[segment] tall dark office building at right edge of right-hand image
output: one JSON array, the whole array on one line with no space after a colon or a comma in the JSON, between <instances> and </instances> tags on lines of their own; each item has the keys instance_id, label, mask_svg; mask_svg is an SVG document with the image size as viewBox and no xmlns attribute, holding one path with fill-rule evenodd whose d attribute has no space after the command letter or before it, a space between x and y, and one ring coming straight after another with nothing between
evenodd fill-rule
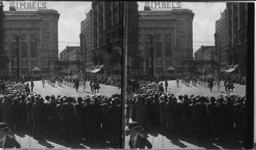
<instances>
[{"instance_id":1,"label":"tall dark office building at right edge of right-hand image","mask_svg":"<svg viewBox=\"0 0 256 150\"><path fill-rule=\"evenodd\" d=\"M247 65L247 3L227 3L226 37L229 68L238 68L246 74Z\"/></svg>"}]
</instances>

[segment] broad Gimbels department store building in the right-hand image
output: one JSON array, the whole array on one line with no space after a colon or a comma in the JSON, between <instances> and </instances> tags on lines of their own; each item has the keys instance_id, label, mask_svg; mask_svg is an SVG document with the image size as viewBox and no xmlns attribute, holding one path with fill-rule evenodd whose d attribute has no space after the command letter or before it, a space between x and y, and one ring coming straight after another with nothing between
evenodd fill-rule
<instances>
[{"instance_id":1,"label":"broad Gimbels department store building in the right-hand image","mask_svg":"<svg viewBox=\"0 0 256 150\"><path fill-rule=\"evenodd\" d=\"M193 70L193 19L189 9L139 11L139 53L146 59L144 72L151 71L151 50L154 47L154 72L165 73L173 67L176 72ZM153 44L148 38L156 36Z\"/></svg>"}]
</instances>

